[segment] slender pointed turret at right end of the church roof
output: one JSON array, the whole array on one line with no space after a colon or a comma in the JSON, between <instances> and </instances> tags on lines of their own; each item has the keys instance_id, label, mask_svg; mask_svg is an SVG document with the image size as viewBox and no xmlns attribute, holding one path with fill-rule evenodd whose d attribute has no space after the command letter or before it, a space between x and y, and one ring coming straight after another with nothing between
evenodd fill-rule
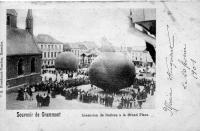
<instances>
[{"instance_id":1,"label":"slender pointed turret at right end of the church roof","mask_svg":"<svg viewBox=\"0 0 200 131\"><path fill-rule=\"evenodd\" d=\"M26 30L33 35L33 16L32 10L28 9L27 17L26 17Z\"/></svg>"}]
</instances>

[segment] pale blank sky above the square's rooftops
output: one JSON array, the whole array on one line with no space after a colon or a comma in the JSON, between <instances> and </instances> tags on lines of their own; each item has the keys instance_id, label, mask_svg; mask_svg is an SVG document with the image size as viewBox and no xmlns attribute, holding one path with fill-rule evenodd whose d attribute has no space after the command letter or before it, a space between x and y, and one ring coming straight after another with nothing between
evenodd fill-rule
<instances>
[{"instance_id":1,"label":"pale blank sky above the square's rooftops","mask_svg":"<svg viewBox=\"0 0 200 131\"><path fill-rule=\"evenodd\" d=\"M27 10L16 10L17 26L25 28ZM144 46L144 40L129 31L129 9L34 9L34 35L48 34L65 42L94 41L106 38L114 46Z\"/></svg>"}]
</instances>

